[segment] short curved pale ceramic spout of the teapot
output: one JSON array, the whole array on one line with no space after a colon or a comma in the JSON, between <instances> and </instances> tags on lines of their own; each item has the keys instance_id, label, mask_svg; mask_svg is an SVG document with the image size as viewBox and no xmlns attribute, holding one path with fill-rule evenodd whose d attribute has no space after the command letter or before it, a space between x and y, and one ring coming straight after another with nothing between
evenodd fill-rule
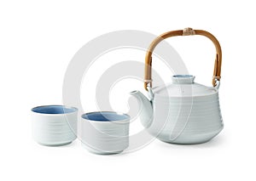
<instances>
[{"instance_id":1,"label":"short curved pale ceramic spout of the teapot","mask_svg":"<svg viewBox=\"0 0 256 181\"><path fill-rule=\"evenodd\" d=\"M141 107L140 110L140 120L143 124L143 127L150 127L150 125L153 122L153 106L152 106L152 102L143 95L143 93L139 92L139 91L132 91L130 93L132 96L137 98L137 101Z\"/></svg>"}]
</instances>

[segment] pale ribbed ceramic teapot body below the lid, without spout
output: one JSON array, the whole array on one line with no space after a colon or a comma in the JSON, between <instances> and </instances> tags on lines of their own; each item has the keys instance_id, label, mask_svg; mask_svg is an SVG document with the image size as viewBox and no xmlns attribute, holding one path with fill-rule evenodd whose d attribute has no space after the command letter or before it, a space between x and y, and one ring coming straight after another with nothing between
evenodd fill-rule
<instances>
[{"instance_id":1,"label":"pale ribbed ceramic teapot body below the lid, without spout","mask_svg":"<svg viewBox=\"0 0 256 181\"><path fill-rule=\"evenodd\" d=\"M201 96L161 96L152 99L153 122L148 133L173 144L200 144L215 137L224 127L215 93Z\"/></svg>"}]
</instances>

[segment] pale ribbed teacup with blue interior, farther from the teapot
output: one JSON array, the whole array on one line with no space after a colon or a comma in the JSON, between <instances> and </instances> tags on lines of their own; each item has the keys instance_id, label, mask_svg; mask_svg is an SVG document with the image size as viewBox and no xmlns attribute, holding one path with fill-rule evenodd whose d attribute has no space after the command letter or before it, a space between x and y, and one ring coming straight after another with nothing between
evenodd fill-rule
<instances>
[{"instance_id":1,"label":"pale ribbed teacup with blue interior, farther from the teapot","mask_svg":"<svg viewBox=\"0 0 256 181\"><path fill-rule=\"evenodd\" d=\"M38 144L61 146L77 138L78 109L65 105L32 108L32 137Z\"/></svg>"}]
</instances>

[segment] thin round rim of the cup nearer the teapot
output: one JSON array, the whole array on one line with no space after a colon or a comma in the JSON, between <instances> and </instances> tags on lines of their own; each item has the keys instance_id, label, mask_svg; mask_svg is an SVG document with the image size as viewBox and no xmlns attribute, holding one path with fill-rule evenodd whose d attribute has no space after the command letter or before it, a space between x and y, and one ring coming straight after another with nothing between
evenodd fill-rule
<instances>
[{"instance_id":1,"label":"thin round rim of the cup nearer the teapot","mask_svg":"<svg viewBox=\"0 0 256 181\"><path fill-rule=\"evenodd\" d=\"M113 115L124 116L124 119L118 119L118 120L96 120L96 119L89 119L89 118L85 118L84 117L84 116L89 116L89 115L98 114L98 113L103 113L103 114L110 113L110 114L113 114ZM92 112L84 113L83 115L81 115L81 118L83 120L87 120L89 122L124 122L124 121L130 120L131 116L129 116L129 115L125 114L125 113L116 112L116 111L92 111Z\"/></svg>"}]
</instances>

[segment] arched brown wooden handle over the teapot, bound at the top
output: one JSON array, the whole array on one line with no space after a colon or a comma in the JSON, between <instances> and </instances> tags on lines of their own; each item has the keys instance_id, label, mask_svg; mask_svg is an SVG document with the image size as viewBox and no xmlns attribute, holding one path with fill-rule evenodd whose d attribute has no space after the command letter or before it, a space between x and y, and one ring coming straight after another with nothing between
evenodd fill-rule
<instances>
[{"instance_id":1,"label":"arched brown wooden handle over the teapot, bound at the top","mask_svg":"<svg viewBox=\"0 0 256 181\"><path fill-rule=\"evenodd\" d=\"M222 60L222 52L220 44L216 37L214 37L211 33L202 30L193 30L192 28L185 28L184 30L178 31L169 31L166 32L159 37L155 38L153 42L151 42L146 58L145 58L145 77L144 77L144 88L148 90L147 86L148 83L152 88L152 79L151 79L151 65L152 65L152 53L156 45L161 42L162 40L166 39L167 37L175 37L175 36L189 36L189 35L201 35L208 37L216 48L216 59L214 65L214 71L212 76L212 86L215 87L217 85L216 81L220 80L220 71L221 71L221 60Z\"/></svg>"}]
</instances>

